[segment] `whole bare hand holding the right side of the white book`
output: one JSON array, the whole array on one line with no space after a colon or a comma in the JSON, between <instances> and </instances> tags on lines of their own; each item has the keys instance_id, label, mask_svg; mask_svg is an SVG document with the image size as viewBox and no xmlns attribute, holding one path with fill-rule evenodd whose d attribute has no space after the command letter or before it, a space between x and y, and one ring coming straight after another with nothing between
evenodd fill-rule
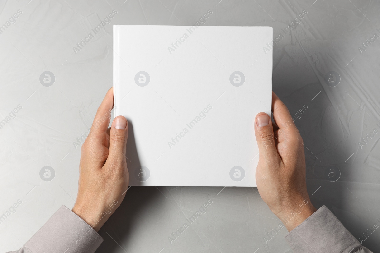
<instances>
[{"instance_id":1,"label":"whole bare hand holding the right side of the white book","mask_svg":"<svg viewBox=\"0 0 380 253\"><path fill-rule=\"evenodd\" d=\"M304 145L288 108L272 93L272 125L266 113L258 113L255 134L259 147L257 189L271 211L290 232L316 209L306 189Z\"/></svg>"}]
</instances>

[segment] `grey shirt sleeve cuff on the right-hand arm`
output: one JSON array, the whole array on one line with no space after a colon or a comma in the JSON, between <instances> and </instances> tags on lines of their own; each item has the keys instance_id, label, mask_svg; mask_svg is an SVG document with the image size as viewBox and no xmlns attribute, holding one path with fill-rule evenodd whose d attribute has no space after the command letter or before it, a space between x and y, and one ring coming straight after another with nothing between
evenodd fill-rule
<instances>
[{"instance_id":1,"label":"grey shirt sleeve cuff on the right-hand arm","mask_svg":"<svg viewBox=\"0 0 380 253\"><path fill-rule=\"evenodd\" d=\"M294 253L372 253L322 206L285 236Z\"/></svg>"}]
</instances>

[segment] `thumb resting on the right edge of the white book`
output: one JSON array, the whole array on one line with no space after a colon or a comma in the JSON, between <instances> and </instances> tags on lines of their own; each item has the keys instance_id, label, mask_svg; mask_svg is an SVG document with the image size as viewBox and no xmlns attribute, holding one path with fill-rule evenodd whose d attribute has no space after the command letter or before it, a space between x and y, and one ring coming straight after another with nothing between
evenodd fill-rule
<instances>
[{"instance_id":1,"label":"thumb resting on the right edge of the white book","mask_svg":"<svg viewBox=\"0 0 380 253\"><path fill-rule=\"evenodd\" d=\"M278 156L274 143L273 125L268 114L261 112L256 115L255 135L259 147L259 160L273 160Z\"/></svg>"}]
</instances>

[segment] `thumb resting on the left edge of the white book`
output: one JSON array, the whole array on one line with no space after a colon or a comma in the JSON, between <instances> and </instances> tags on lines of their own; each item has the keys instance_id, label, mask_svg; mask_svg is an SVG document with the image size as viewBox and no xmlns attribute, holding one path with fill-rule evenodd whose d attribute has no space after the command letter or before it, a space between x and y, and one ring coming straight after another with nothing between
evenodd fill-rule
<instances>
[{"instance_id":1,"label":"thumb resting on the left edge of the white book","mask_svg":"<svg viewBox=\"0 0 380 253\"><path fill-rule=\"evenodd\" d=\"M123 116L117 116L112 122L109 134L109 157L119 160L125 157L127 148L128 122ZM121 161L121 160L120 160Z\"/></svg>"}]
</instances>

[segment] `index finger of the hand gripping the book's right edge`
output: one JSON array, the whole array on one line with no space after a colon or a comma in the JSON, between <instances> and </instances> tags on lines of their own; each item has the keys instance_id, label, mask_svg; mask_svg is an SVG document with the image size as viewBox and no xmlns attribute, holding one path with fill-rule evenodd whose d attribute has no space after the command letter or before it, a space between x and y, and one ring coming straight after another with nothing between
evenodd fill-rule
<instances>
[{"instance_id":1,"label":"index finger of the hand gripping the book's right edge","mask_svg":"<svg viewBox=\"0 0 380 253\"><path fill-rule=\"evenodd\" d=\"M299 132L296 124L294 124L294 121L290 116L288 107L286 107L286 105L274 92L272 92L272 109L274 122L279 127L279 130L277 130L277 132L281 132L281 134L285 133L285 135L288 136L297 137L299 135Z\"/></svg>"}]
</instances>

